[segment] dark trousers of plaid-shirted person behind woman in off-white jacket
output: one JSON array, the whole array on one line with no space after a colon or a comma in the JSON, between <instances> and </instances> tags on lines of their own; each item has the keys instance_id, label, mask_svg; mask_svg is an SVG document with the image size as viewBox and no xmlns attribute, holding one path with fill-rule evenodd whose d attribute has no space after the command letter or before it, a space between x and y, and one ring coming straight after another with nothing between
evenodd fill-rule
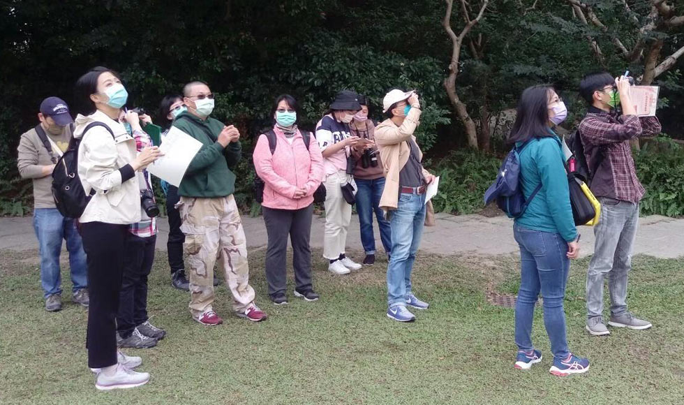
<instances>
[{"instance_id":1,"label":"dark trousers of plaid-shirted person behind woman in off-white jacket","mask_svg":"<svg viewBox=\"0 0 684 405\"><path fill-rule=\"evenodd\" d=\"M119 293L117 330L119 336L131 336L137 325L147 321L147 277L154 263L157 236L139 237L128 233L124 253L124 277Z\"/></svg>"}]
</instances>

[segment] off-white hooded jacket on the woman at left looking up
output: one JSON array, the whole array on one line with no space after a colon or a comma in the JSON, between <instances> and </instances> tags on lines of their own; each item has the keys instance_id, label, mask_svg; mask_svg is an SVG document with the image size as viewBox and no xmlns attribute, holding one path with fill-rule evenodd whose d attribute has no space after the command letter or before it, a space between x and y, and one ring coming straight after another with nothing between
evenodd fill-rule
<instances>
[{"instance_id":1,"label":"off-white hooded jacket on the woman at left looking up","mask_svg":"<svg viewBox=\"0 0 684 405\"><path fill-rule=\"evenodd\" d=\"M109 126L114 132L114 139L101 126L90 129L83 137L86 126L95 121ZM78 147L78 177L86 194L91 190L96 191L79 221L117 224L140 222L140 186L137 177L122 183L119 171L137 156L135 139L128 135L123 124L101 111L87 117L78 115L75 124L74 138L83 137Z\"/></svg>"}]
</instances>

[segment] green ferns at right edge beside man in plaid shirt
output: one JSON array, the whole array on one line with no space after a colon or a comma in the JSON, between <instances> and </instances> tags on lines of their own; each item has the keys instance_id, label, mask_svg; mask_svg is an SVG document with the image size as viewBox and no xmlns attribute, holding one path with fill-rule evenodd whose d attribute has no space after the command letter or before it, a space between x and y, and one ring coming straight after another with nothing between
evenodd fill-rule
<instances>
[{"instance_id":1,"label":"green ferns at right edge beside man in plaid shirt","mask_svg":"<svg viewBox=\"0 0 684 405\"><path fill-rule=\"evenodd\" d=\"M650 140L634 153L634 165L646 196L642 214L684 215L684 148L670 138Z\"/></svg>"}]
</instances>

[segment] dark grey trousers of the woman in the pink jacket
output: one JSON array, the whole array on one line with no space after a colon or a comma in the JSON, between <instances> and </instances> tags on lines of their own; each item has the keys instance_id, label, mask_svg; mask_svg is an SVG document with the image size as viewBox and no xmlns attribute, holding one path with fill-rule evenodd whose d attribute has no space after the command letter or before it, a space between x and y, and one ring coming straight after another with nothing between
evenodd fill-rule
<instances>
[{"instance_id":1,"label":"dark grey trousers of the woman in the pink jacket","mask_svg":"<svg viewBox=\"0 0 684 405\"><path fill-rule=\"evenodd\" d=\"M311 220L313 204L302 209L262 207L269 244L266 251L266 279L269 295L285 293L288 285L288 235L292 242L292 267L297 290L311 290Z\"/></svg>"}]
</instances>

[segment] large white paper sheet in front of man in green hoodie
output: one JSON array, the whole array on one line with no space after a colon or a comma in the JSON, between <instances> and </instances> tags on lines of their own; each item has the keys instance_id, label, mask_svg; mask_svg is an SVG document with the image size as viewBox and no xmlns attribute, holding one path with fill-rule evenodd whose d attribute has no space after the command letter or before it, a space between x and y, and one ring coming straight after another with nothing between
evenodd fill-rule
<instances>
[{"instance_id":1,"label":"large white paper sheet in front of man in green hoodie","mask_svg":"<svg viewBox=\"0 0 684 405\"><path fill-rule=\"evenodd\" d=\"M202 142L172 126L159 147L164 156L147 166L147 171L169 184L179 186L188 165L201 147Z\"/></svg>"}]
</instances>

